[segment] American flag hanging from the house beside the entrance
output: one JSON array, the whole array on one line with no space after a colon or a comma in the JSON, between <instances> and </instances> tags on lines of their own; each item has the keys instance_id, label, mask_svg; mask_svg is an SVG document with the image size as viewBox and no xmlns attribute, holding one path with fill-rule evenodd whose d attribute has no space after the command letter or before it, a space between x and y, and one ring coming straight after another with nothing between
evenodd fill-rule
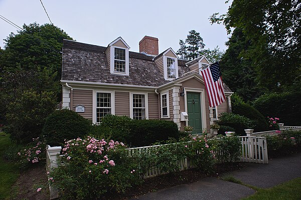
<instances>
[{"instance_id":1,"label":"American flag hanging from the house beside the entrance","mask_svg":"<svg viewBox=\"0 0 301 200\"><path fill-rule=\"evenodd\" d=\"M218 62L202 70L210 107L220 105L226 100Z\"/></svg>"}]
</instances>

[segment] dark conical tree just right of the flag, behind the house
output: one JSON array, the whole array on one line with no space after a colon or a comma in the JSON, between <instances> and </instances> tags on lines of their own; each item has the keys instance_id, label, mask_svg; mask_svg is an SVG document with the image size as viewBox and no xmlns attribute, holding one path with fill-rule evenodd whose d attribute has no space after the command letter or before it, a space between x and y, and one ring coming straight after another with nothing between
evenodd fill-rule
<instances>
[{"instance_id":1,"label":"dark conical tree just right of the flag, behind the house","mask_svg":"<svg viewBox=\"0 0 301 200\"><path fill-rule=\"evenodd\" d=\"M226 45L228 49L220 61L223 81L245 101L252 101L264 90L257 84L258 75L251 58L245 56L251 42L240 28L236 28Z\"/></svg>"}]
</instances>

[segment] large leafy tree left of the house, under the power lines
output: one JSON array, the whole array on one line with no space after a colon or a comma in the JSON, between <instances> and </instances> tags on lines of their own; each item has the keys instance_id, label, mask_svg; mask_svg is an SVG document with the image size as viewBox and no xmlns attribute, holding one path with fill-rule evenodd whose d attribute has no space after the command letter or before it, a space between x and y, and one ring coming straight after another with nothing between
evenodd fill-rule
<instances>
[{"instance_id":1,"label":"large leafy tree left of the house, under the power lines","mask_svg":"<svg viewBox=\"0 0 301 200\"><path fill-rule=\"evenodd\" d=\"M3 72L47 68L61 78L61 50L63 39L72 40L63 30L50 24L24 25L23 31L10 34L5 39L5 50L0 54Z\"/></svg>"}]
</instances>

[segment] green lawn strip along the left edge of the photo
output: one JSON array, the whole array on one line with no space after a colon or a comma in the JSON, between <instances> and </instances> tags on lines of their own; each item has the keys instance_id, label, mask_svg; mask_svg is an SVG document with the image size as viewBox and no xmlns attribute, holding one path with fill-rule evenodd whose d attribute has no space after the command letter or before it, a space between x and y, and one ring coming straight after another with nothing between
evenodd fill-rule
<instances>
[{"instance_id":1,"label":"green lawn strip along the left edge of the photo","mask_svg":"<svg viewBox=\"0 0 301 200\"><path fill-rule=\"evenodd\" d=\"M13 184L17 181L20 170L19 166L13 162L3 159L7 148L14 145L8 134L0 132L0 199L9 199Z\"/></svg>"}]
</instances>

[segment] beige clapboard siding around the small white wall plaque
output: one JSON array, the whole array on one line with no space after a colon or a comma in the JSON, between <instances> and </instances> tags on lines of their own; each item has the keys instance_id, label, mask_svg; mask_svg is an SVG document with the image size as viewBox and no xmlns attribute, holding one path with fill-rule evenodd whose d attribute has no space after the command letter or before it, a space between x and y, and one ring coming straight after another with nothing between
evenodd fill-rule
<instances>
[{"instance_id":1,"label":"beige clapboard siding around the small white wall plaque","mask_svg":"<svg viewBox=\"0 0 301 200\"><path fill-rule=\"evenodd\" d=\"M81 116L86 119L92 120L92 90L73 90L73 108L75 111L75 106L83 105L85 106L85 112L78 112Z\"/></svg>"}]
</instances>

